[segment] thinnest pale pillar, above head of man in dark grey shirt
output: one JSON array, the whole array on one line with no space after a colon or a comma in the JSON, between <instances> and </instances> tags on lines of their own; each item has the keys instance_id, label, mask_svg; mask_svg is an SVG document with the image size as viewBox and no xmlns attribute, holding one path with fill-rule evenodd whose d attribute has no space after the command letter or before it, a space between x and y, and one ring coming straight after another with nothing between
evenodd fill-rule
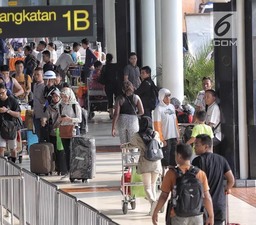
<instances>
[{"instance_id":1,"label":"thinnest pale pillar, above head of man in dark grey shirt","mask_svg":"<svg viewBox=\"0 0 256 225\"><path fill-rule=\"evenodd\" d=\"M135 0L130 0L130 31L131 31L131 52L136 52Z\"/></svg>"}]
</instances>

